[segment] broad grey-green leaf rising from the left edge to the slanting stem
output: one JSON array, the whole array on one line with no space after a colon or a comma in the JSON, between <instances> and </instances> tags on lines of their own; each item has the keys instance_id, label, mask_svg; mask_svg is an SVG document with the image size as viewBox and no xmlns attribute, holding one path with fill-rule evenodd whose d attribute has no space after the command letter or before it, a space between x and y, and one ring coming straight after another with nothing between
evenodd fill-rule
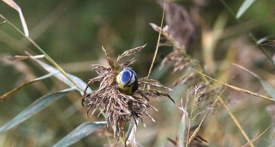
<instances>
[{"instance_id":1,"label":"broad grey-green leaf rising from the left edge to the slanting stem","mask_svg":"<svg viewBox=\"0 0 275 147\"><path fill-rule=\"evenodd\" d=\"M6 123L4 126L0 128L0 134L8 131L9 129L17 126L18 124L26 121L34 114L38 113L39 111L43 110L44 108L48 107L53 102L57 101L58 99L65 96L68 92L71 92L73 90L76 90L76 87L71 87L69 89L65 89L59 92L51 93L48 95L44 95L37 99L35 102L33 102L30 106L28 106L26 109L24 109L22 112L17 114L15 117L13 117L12 120L10 120L8 123Z\"/></svg>"}]
</instances>

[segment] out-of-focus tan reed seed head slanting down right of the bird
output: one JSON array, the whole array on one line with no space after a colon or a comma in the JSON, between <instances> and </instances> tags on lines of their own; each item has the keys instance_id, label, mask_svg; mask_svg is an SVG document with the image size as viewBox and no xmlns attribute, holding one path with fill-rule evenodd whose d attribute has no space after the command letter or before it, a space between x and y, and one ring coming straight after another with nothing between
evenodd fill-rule
<instances>
[{"instance_id":1,"label":"out-of-focus tan reed seed head slanting down right of the bird","mask_svg":"<svg viewBox=\"0 0 275 147\"><path fill-rule=\"evenodd\" d=\"M169 5L172 9L173 7L178 7L174 4ZM172 14L172 11L171 11ZM205 81L201 75L199 75L194 70L191 70L188 67L193 67L199 71L203 71L202 67L199 65L197 60L194 60L190 55L186 52L186 46L183 46L177 37L173 36L171 34L171 30L169 30L169 23L168 25L164 26L163 28L157 26L156 24L151 23L152 28L159 32L161 31L162 36L165 38L165 42L161 43L162 46L172 46L173 50L164 58L161 64L161 69L165 67L166 65L172 64L173 65L173 73L175 72L182 72L183 74L175 79L173 83L171 84L171 87L175 87L180 84L187 84L189 87L195 87L196 84L202 83L200 85L200 89L204 88L202 92L199 93L199 96L196 97L196 104L203 101L208 101L211 105L214 100L213 97L216 97L216 95L221 92L220 87L215 87L212 85L211 81ZM179 28L180 29L180 28ZM185 31L185 28L182 28L182 31ZM179 31L178 31L179 32ZM188 38L188 36L187 36ZM211 85L211 86L210 86ZM198 87L195 87L195 90L191 91L193 94L195 94L195 91L198 91ZM198 94L198 92L196 93ZM215 105L215 108L218 108L219 103Z\"/></svg>"}]
</instances>

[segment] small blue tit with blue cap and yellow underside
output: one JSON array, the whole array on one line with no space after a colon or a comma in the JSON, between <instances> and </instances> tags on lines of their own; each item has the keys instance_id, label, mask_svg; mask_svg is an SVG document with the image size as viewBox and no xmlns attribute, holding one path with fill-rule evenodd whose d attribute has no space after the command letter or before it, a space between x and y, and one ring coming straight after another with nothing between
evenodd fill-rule
<instances>
[{"instance_id":1,"label":"small blue tit with blue cap and yellow underside","mask_svg":"<svg viewBox=\"0 0 275 147\"><path fill-rule=\"evenodd\" d=\"M123 69L117 76L117 86L121 93L133 95L139 88L135 72L130 68Z\"/></svg>"}]
</instances>

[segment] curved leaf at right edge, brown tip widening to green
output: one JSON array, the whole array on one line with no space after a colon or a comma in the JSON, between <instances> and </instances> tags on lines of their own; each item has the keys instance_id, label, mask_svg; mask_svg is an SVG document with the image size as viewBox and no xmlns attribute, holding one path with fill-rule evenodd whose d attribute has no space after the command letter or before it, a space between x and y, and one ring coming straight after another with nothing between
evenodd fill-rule
<instances>
[{"instance_id":1,"label":"curved leaf at right edge, brown tip widening to green","mask_svg":"<svg viewBox=\"0 0 275 147\"><path fill-rule=\"evenodd\" d=\"M251 75L253 75L254 77L257 78L257 80L260 81L260 83L262 84L263 88L265 89L265 91L273 98L273 100L275 101L275 90L273 89L273 87L267 82L265 81L262 77L258 76L256 73L251 72L250 70L246 69L243 66L240 66L238 64L233 64L234 66L243 69L244 71L250 73Z\"/></svg>"}]
</instances>

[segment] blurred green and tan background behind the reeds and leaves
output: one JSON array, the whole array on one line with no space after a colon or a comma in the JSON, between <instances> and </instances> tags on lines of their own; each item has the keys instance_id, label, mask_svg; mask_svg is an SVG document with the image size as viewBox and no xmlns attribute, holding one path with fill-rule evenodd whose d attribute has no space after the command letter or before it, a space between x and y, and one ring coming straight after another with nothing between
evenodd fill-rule
<instances>
[{"instance_id":1,"label":"blurred green and tan background behind the reeds and leaves","mask_svg":"<svg viewBox=\"0 0 275 147\"><path fill-rule=\"evenodd\" d=\"M146 48L137 54L138 61L133 65L138 77L147 76L158 35L149 23L160 25L163 13L162 7L155 1L18 0L15 2L25 16L30 37L66 72L87 82L88 79L95 76L95 72L91 72L91 64L107 65L102 46L113 58L116 58L127 49L147 44ZM208 61L205 61L207 50L205 50L203 41L215 35L213 32L217 31L215 28L217 22L224 23L219 30L221 35L215 40L215 45L212 48L215 70L210 73L218 77L223 72L237 70L236 68L232 69L231 63L243 63L245 64L243 66L249 67L251 71L262 76L271 85L275 85L270 61L251 42L250 36L222 3L202 0L196 2L203 4L199 13L203 23L195 22L196 39L188 47L188 53L200 63L207 64ZM243 3L243 1L225 2L235 14ZM176 1L176 3L185 6L187 10L194 5L193 1ZM256 1L244 13L240 21L257 39L272 35L275 32L274 6L274 1ZM4 2L0 2L0 14L18 28L22 28L18 13ZM272 43L264 47L272 56L274 53ZM41 54L8 23L0 25L0 95L12 90L22 82L46 73L29 60L7 61L7 58L14 55L25 55L24 51ZM158 70L158 65L170 51L171 48L168 47L159 48L155 67L151 74L151 78L161 81L166 86L169 86L180 75L171 75L169 71ZM242 54L241 52L244 52L243 54L248 52L248 55L238 56ZM169 76L167 76L168 74ZM224 76L224 78L228 81L232 80L233 83L237 82L236 85L244 89L268 95L263 91L259 82L248 74L241 77L242 81L234 81L235 77L233 76ZM224 80L224 78L221 79ZM11 120L37 98L49 92L59 91L64 87L66 86L53 77L25 87L24 90L0 103L0 126ZM187 85L178 86L171 94L177 102L176 106L167 99L151 102L159 109L158 112L150 111L156 123L145 119L147 128L139 126L136 134L137 141L144 146L164 146L169 142L167 137L175 138L182 115L177 107L180 107L180 98L186 97L186 87ZM257 131L262 132L271 124L270 114L266 111L266 106L270 102L236 93L230 95L233 100L228 100L228 104L247 134L252 138ZM81 108L81 104L78 102L80 97L77 93L71 93L16 128L1 134L0 146L51 146L85 121L104 120L102 117L97 118L96 116L87 118L84 108ZM238 100L242 98L246 99L239 102ZM272 134L272 130L269 131L256 141L257 146L268 146L270 134ZM98 134L100 132L89 135L72 146L102 146L107 143L106 137ZM209 141L209 146L240 146L246 143L222 108L208 117L205 128L200 134ZM112 141L116 142L116 140Z\"/></svg>"}]
</instances>

